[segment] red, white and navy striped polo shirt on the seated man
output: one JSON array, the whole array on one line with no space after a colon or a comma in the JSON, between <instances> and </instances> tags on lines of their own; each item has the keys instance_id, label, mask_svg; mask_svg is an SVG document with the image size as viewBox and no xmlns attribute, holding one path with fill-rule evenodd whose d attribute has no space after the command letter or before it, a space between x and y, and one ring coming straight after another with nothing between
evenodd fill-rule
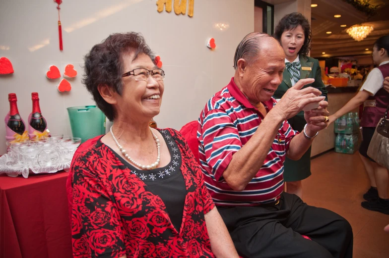
<instances>
[{"instance_id":1,"label":"red, white and navy striped polo shirt on the seated man","mask_svg":"<svg viewBox=\"0 0 389 258\"><path fill-rule=\"evenodd\" d=\"M276 103L262 102L269 111ZM237 151L257 131L263 115L234 82L217 92L205 105L198 119L200 167L205 184L217 206L256 206L277 201L284 188L285 153L298 134L284 121L256 176L243 191L234 191L223 179L223 172Z\"/></svg>"}]
</instances>

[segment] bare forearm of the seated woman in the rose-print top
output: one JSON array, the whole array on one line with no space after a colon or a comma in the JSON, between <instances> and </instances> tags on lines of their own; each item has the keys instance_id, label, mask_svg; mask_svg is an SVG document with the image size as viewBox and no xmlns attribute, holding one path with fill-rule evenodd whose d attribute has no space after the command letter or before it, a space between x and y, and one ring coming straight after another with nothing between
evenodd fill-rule
<instances>
[{"instance_id":1,"label":"bare forearm of the seated woman in the rose-print top","mask_svg":"<svg viewBox=\"0 0 389 258\"><path fill-rule=\"evenodd\" d=\"M231 236L216 206L204 214L204 216L212 253L216 258L239 258Z\"/></svg>"}]
</instances>

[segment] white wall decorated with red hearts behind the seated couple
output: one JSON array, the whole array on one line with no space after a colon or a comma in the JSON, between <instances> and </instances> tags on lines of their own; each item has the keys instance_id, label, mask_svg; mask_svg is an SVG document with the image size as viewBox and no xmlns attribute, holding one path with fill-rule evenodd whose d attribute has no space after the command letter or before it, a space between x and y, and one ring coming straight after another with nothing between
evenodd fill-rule
<instances>
[{"instance_id":1,"label":"white wall decorated with red hearts behind the seated couple","mask_svg":"<svg viewBox=\"0 0 389 258\"><path fill-rule=\"evenodd\" d=\"M27 123L31 92L38 92L51 132L71 134L66 107L93 104L81 84L83 55L110 33L136 31L161 56L166 72L161 128L180 129L196 120L205 102L233 76L233 57L242 38L254 30L254 0L195 0L194 16L157 12L156 0L64 0L61 4L64 51L59 51L58 11L51 0L0 1L0 56L9 58L14 74L0 76L0 115L16 93ZM228 23L221 31L216 23ZM205 47L215 38L216 49ZM78 71L72 90L59 93L60 79L45 77L50 65L61 72L71 63ZM62 78L61 78L62 79ZM0 126L0 154L5 151Z\"/></svg>"}]
</instances>

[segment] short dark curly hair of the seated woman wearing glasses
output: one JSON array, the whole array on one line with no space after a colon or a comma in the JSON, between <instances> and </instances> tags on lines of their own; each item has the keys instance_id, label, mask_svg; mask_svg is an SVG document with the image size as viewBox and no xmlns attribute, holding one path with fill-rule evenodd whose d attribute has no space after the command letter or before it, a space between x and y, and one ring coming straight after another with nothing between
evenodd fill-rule
<instances>
[{"instance_id":1,"label":"short dark curly hair of the seated woman wearing glasses","mask_svg":"<svg viewBox=\"0 0 389 258\"><path fill-rule=\"evenodd\" d=\"M82 83L93 96L97 106L111 121L116 117L115 110L100 95L97 87L100 84L112 87L119 95L122 95L123 56L134 53L135 60L140 53L147 54L154 61L154 53L146 44L140 33L114 33L108 36L100 44L96 44L84 56L84 77Z\"/></svg>"}]
</instances>

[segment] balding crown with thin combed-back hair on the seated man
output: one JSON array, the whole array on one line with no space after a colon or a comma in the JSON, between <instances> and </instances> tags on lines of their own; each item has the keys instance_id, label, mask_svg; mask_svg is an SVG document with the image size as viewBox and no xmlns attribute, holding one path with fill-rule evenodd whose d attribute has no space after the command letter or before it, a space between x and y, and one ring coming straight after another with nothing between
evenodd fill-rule
<instances>
[{"instance_id":1,"label":"balding crown with thin combed-back hair on the seated man","mask_svg":"<svg viewBox=\"0 0 389 258\"><path fill-rule=\"evenodd\" d=\"M275 47L274 51L282 51L277 40L261 32L252 32L246 35L239 43L234 56L234 69L238 67L238 60L243 58L248 64L252 64L260 57L260 50Z\"/></svg>"}]
</instances>

